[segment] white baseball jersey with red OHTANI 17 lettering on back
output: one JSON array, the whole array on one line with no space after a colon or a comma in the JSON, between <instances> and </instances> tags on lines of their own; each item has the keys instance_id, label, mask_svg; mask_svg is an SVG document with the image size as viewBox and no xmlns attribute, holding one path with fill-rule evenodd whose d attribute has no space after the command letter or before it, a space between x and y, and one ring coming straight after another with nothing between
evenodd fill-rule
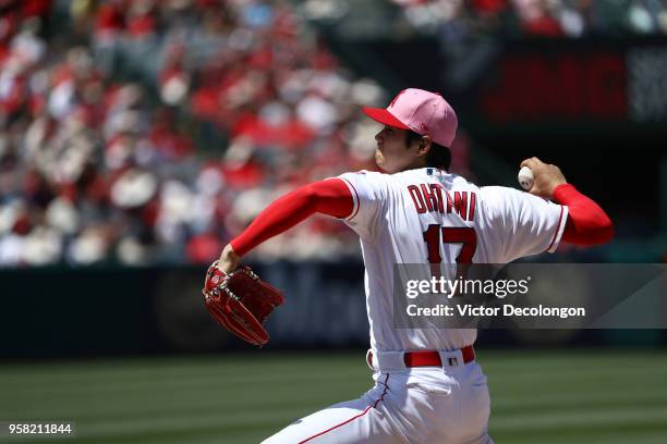
<instances>
[{"instance_id":1,"label":"white baseball jersey with red OHTANI 17 lettering on back","mask_svg":"<svg viewBox=\"0 0 667 444\"><path fill-rule=\"evenodd\" d=\"M345 220L361 237L374 351L457 349L475 329L395 329L395 263L507 263L556 250L568 208L500 186L477 187L434 168L339 176L352 193Z\"/></svg>"}]
</instances>

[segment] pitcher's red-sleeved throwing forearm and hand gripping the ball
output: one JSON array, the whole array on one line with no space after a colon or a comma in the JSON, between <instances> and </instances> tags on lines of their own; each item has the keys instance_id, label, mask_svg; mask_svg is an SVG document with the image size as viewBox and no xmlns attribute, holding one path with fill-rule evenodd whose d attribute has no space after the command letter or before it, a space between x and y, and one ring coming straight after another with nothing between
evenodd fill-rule
<instances>
[{"instance_id":1,"label":"pitcher's red-sleeved throwing forearm and hand gripping the ball","mask_svg":"<svg viewBox=\"0 0 667 444\"><path fill-rule=\"evenodd\" d=\"M558 166L544 163L537 158L524 160L521 166L530 168L535 177L529 193L568 207L562 242L592 246L611 240L614 224L607 213L593 199L568 184Z\"/></svg>"}]
</instances>

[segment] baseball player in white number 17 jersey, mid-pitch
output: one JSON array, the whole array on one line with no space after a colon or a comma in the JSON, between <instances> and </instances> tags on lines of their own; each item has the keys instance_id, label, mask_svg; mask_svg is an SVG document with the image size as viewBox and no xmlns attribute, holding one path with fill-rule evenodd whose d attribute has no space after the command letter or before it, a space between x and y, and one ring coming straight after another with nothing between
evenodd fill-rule
<instances>
[{"instance_id":1,"label":"baseball player in white number 17 jersey, mid-pitch","mask_svg":"<svg viewBox=\"0 0 667 444\"><path fill-rule=\"evenodd\" d=\"M486 377L475 329L395 329L395 263L507 263L553 252L560 242L608 242L605 212L566 182L558 166L526 159L530 193L477 187L447 172L457 116L438 94L405 89L386 109L375 160L384 171L312 183L267 207L227 245L229 273L262 242L314 213L344 221L360 238L375 385L359 399L302 418L265 443L492 443ZM549 200L547 200L549 199Z\"/></svg>"}]
</instances>

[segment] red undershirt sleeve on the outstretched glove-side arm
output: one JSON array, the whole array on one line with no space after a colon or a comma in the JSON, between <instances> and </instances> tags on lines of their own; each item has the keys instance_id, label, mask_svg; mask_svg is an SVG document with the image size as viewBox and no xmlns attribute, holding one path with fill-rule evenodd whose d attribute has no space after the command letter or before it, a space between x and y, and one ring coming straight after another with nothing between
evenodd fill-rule
<instances>
[{"instance_id":1,"label":"red undershirt sleeve on the outstretched glove-side arm","mask_svg":"<svg viewBox=\"0 0 667 444\"><path fill-rule=\"evenodd\" d=\"M266 207L250 226L230 242L239 256L318 212L343 219L352 213L352 193L340 178L328 178L288 193Z\"/></svg>"}]
</instances>

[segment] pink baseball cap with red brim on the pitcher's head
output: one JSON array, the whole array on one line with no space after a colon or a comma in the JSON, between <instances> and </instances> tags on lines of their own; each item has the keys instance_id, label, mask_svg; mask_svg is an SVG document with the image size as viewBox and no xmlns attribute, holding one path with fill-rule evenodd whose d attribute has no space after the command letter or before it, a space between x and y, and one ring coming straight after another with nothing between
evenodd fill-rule
<instances>
[{"instance_id":1,"label":"pink baseball cap with red brim on the pitcher's head","mask_svg":"<svg viewBox=\"0 0 667 444\"><path fill-rule=\"evenodd\" d=\"M437 92L416 88L403 89L386 109L362 107L362 110L374 121L397 128L412 130L448 148L451 148L457 136L457 114Z\"/></svg>"}]
</instances>

